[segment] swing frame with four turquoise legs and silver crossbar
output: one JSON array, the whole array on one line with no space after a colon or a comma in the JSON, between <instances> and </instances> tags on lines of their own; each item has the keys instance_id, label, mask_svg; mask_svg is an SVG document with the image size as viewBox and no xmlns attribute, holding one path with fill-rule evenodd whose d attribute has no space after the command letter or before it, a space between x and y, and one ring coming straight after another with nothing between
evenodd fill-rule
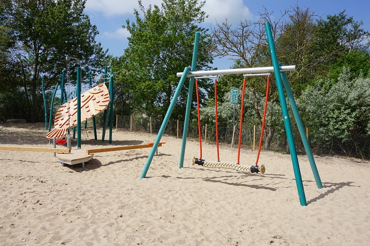
<instances>
[{"instance_id":1,"label":"swing frame with four turquoise legs and silver crossbar","mask_svg":"<svg viewBox=\"0 0 370 246\"><path fill-rule=\"evenodd\" d=\"M289 114L288 114L288 107L287 107L286 98L285 98L285 95L284 95L284 88L285 88L286 93L288 95L289 102L290 102L290 105L292 107L292 111L293 111L298 129L299 129L301 138L303 140L303 143L304 143L304 146L305 146L305 149L306 149L306 153L308 155L308 160L309 160L309 163L310 163L310 166L311 166L311 169L312 169L313 176L314 176L315 181L316 181L317 188L318 189L322 188L321 179L320 179L320 176L318 174L316 163L314 162L313 155L312 155L311 149L310 149L309 144L308 144L308 140L307 140L307 137L306 137L306 134L305 134L305 129L303 127L302 120L301 120L301 117L299 115L297 105L296 105L296 102L295 102L294 97L293 97L293 93L290 89L290 85L288 83L288 79L287 79L286 74L285 74L286 71L294 71L296 69L296 67L295 67L295 65L282 66L282 64L278 63L270 24L266 23L265 28L266 28L269 52L270 52L271 61L272 61L272 65L273 65L271 67L194 71L195 67L196 67L197 53L198 53L198 47L199 47L199 36L200 36L199 32L195 33L193 57L192 57L192 62L191 62L191 71L189 71L188 67L185 67L183 73L177 73L177 76L181 77L180 82L179 82L178 87L175 91L174 97L171 100L170 106L167 110L167 113L166 113L165 118L162 122L162 125L161 125L161 127L158 131L158 135L157 135L156 140L154 142L154 145L153 145L153 147L150 151L148 159L146 160L146 163L145 163L145 166L143 168L143 171L141 173L140 178L145 178L145 176L148 172L150 164L153 160L154 153L155 153L156 149L159 146L159 143L160 143L160 140L162 138L163 132L164 132L166 126L167 126L168 120L171 116L172 110L174 108L174 105L175 105L178 97L179 97L179 94L181 92L181 89L184 85L184 82L185 82L186 78L190 78L190 81L189 81L188 95L187 95L187 101L186 101L184 133L183 133L182 148L181 148L181 153L180 153L179 168L182 168L183 164L184 164L187 128L188 128L190 107L191 107L191 103L192 103L192 94L193 94L193 87L194 87L194 77L195 76L207 76L207 75L220 75L220 74L251 74L251 73L274 72L276 85L277 85L277 89L278 89L278 94L279 94L280 106L281 106L281 109L282 109L282 116L283 116L285 131L286 131L286 134L287 134L290 154L291 154L291 158L292 158L293 170L294 170L294 174L295 174L295 180L296 180L296 185L297 185L297 190L298 190L298 195L299 195L301 205L306 206L307 205L307 200L306 200L306 195L305 195L305 191L304 191L304 188L303 188L301 171L300 171L300 167L299 167L299 163L298 163L298 157L297 157L296 147L295 147L295 144L294 144L291 122L290 122L290 118L289 118Z\"/></svg>"}]
</instances>

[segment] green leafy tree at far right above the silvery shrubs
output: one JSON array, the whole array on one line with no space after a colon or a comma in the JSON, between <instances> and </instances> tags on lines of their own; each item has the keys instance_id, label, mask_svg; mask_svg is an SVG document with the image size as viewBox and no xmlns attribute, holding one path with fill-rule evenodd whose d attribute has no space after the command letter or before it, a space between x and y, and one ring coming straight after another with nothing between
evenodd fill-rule
<instances>
[{"instance_id":1,"label":"green leafy tree at far right above the silvery shrubs","mask_svg":"<svg viewBox=\"0 0 370 246\"><path fill-rule=\"evenodd\" d=\"M370 36L362 25L362 21L348 17L345 11L317 20L310 49L316 76L329 77L335 84L343 66L350 67L356 75L362 69L368 72L368 66L360 64L369 61L369 43L365 41Z\"/></svg>"}]
</instances>

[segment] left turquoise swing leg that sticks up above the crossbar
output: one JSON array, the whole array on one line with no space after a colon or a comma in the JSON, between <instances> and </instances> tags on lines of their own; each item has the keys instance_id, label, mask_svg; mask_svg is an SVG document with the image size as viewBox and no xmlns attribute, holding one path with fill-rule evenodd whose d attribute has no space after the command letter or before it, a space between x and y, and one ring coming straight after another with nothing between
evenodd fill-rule
<instances>
[{"instance_id":1,"label":"left turquoise swing leg that sticks up above the crossbar","mask_svg":"<svg viewBox=\"0 0 370 246\"><path fill-rule=\"evenodd\" d=\"M198 58L199 38L200 38L200 32L196 32L195 33L195 40L194 40L193 57L192 57L192 60L191 60L191 71L195 71L195 69L196 69L196 60ZM182 142L182 145L181 145L179 168L182 168L184 166L187 128L189 126L190 109L191 109L191 102L192 102L192 98L193 98L193 88L194 88L194 77L191 77L190 81L189 81L189 90L187 92L183 142Z\"/></svg>"}]
</instances>

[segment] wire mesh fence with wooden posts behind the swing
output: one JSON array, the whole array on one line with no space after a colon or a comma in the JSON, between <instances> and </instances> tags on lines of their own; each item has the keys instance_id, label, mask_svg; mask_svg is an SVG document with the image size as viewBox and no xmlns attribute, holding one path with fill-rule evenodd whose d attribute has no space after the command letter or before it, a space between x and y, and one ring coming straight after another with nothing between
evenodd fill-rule
<instances>
[{"instance_id":1,"label":"wire mesh fence with wooden posts behind the swing","mask_svg":"<svg viewBox=\"0 0 370 246\"><path fill-rule=\"evenodd\" d=\"M98 122L98 120L97 120ZM101 123L100 123L101 122ZM122 116L117 115L116 118L117 129L128 130L128 131L143 131L152 134L158 133L162 120L153 119L151 117L141 116ZM115 124L116 124L115 122ZM103 124L103 120L99 120L99 125ZM98 123L97 123L98 125ZM289 153L289 146L283 126L275 128L273 134L270 133L271 137L268 138L268 130L264 131L264 137L262 138L262 149L268 149L273 151ZM305 148L302 143L300 133L296 126L293 126L293 135L295 139L295 145L297 153L305 154ZM169 120L165 135L174 136L178 138L183 137L184 121ZM242 148L252 149L258 148L260 139L261 127L260 126L244 126L242 129ZM216 128L214 124L207 124L201 126L202 142L216 143ZM229 145L234 148L238 148L239 142L239 125L233 126L220 126L218 128L219 143L221 145ZM233 137L234 136L234 137ZM197 121L189 122L188 138L197 140L198 137L198 123ZM266 145L266 140L269 144ZM356 157L362 159L370 159L370 135L367 134L352 134L346 140L339 138L322 138L321 135L315 135L314 132L310 132L308 136L311 150L314 154L319 155L341 155L348 157ZM233 145L232 145L233 143Z\"/></svg>"}]
</instances>

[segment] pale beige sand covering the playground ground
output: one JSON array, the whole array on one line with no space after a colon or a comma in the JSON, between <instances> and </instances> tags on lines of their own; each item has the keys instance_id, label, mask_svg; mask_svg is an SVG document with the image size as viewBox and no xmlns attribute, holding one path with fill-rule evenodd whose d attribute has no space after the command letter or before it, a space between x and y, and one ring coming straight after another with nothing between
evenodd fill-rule
<instances>
[{"instance_id":1,"label":"pale beige sand covering the playground ground","mask_svg":"<svg viewBox=\"0 0 370 246\"><path fill-rule=\"evenodd\" d=\"M42 124L2 124L0 145L50 147ZM1 128L1 127L0 127ZM82 134L91 139L92 131ZM101 132L99 132L101 136ZM108 132L107 135L108 137ZM114 131L115 145L153 142L155 135ZM370 163L316 156L324 188L316 188L299 156L308 206L299 203L290 155L263 151L266 173L191 166L198 143L164 136L146 179L150 149L95 154L62 167L52 153L0 151L0 246L369 246ZM93 140L82 148L108 146ZM221 146L225 161L237 149ZM256 151L242 150L252 165ZM215 160L214 145L203 158Z\"/></svg>"}]
</instances>

